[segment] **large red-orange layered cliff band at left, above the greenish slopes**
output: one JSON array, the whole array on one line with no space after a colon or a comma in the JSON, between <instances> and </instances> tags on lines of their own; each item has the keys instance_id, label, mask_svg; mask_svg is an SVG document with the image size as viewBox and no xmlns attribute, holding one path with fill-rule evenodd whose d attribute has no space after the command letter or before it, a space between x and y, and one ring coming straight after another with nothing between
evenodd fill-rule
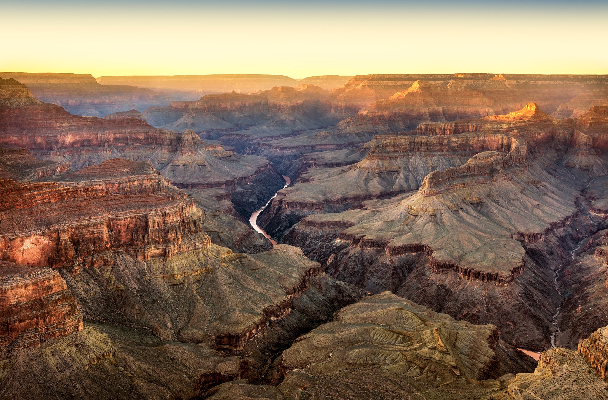
<instances>
[{"instance_id":1,"label":"large red-orange layered cliff band at left, above the greenish slopes","mask_svg":"<svg viewBox=\"0 0 608 400\"><path fill-rule=\"evenodd\" d=\"M0 188L2 260L78 269L111 264L115 252L148 260L210 244L193 199L10 179Z\"/></svg>"}]
</instances>

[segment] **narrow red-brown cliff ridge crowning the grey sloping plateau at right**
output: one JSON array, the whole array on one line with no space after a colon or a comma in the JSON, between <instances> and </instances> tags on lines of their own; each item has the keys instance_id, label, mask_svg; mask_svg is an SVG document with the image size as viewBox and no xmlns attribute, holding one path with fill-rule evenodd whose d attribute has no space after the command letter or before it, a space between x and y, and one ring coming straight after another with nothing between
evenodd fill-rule
<instances>
[{"instance_id":1,"label":"narrow red-brown cliff ridge crowning the grey sloping plateau at right","mask_svg":"<svg viewBox=\"0 0 608 400\"><path fill-rule=\"evenodd\" d=\"M423 196L436 196L446 190L465 188L499 179L510 179L503 169L505 157L497 151L484 151L472 156L461 167L447 168L445 171L432 171L428 174L419 193Z\"/></svg>"}]
</instances>

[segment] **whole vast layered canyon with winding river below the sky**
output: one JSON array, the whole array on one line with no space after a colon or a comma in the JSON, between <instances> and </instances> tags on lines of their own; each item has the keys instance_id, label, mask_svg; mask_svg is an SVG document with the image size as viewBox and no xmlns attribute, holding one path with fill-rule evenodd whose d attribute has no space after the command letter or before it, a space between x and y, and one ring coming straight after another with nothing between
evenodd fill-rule
<instances>
[{"instance_id":1,"label":"whole vast layered canyon with winding river below the sky","mask_svg":"<svg viewBox=\"0 0 608 400\"><path fill-rule=\"evenodd\" d=\"M607 84L0 73L2 396L608 398Z\"/></svg>"}]
</instances>

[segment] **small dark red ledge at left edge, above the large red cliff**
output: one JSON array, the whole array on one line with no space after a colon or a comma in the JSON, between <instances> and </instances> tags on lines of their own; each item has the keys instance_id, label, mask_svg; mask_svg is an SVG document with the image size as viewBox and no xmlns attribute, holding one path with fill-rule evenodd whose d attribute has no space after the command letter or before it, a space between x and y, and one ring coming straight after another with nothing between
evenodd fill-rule
<instances>
[{"instance_id":1,"label":"small dark red ledge at left edge, above the large red cliff","mask_svg":"<svg viewBox=\"0 0 608 400\"><path fill-rule=\"evenodd\" d=\"M41 179L69 170L66 162L43 161L25 148L0 147L0 178Z\"/></svg>"}]
</instances>

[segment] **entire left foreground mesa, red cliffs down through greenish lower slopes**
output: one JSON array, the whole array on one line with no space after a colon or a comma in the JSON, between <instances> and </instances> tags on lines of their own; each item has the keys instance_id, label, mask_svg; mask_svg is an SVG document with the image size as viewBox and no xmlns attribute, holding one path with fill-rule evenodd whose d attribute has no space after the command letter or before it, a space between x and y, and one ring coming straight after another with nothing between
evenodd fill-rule
<instances>
[{"instance_id":1,"label":"entire left foreground mesa, red cliffs down through greenish lower slopes","mask_svg":"<svg viewBox=\"0 0 608 400\"><path fill-rule=\"evenodd\" d=\"M201 139L187 134L181 141ZM192 143L185 144L182 155L189 154ZM69 318L76 300L52 269L38 269L46 272L41 278L50 274L48 284L32 274L18 284L9 278L12 286L3 298L11 303L5 308L10 321L8 331L0 333L3 350L8 346L0 367L7 396L24 387L32 398L201 396L221 382L258 376L255 369L267 368L276 348L361 297L359 289L326 277L295 247L247 255L210 244L204 227L230 233L223 212L214 208L217 215L207 222L194 199L172 187L150 162L111 159L47 179L61 184L0 182L0 226L6 229L1 237L9 242L0 254L27 257L32 264L58 261L50 264L60 267L81 311ZM229 193L223 193L222 201L232 209ZM104 230L105 235L98 234ZM17 249L19 240L27 243ZM65 268L80 261L75 266L88 267ZM0 271L9 271L3 262ZM19 298L28 295L41 300ZM100 321L97 328L89 324L78 333L83 315ZM72 320L80 323L77 329ZM15 321L21 322L15 326ZM19 326L28 329L19 334ZM260 340L266 333L271 337ZM40 350L19 350L41 340L46 341ZM247 360L229 355L242 353L245 346ZM29 368L36 372L28 374ZM57 368L61 375L53 372ZM45 378L39 381L40 376ZM63 385L66 376L68 386ZM120 387L108 387L108 380Z\"/></svg>"}]
</instances>

